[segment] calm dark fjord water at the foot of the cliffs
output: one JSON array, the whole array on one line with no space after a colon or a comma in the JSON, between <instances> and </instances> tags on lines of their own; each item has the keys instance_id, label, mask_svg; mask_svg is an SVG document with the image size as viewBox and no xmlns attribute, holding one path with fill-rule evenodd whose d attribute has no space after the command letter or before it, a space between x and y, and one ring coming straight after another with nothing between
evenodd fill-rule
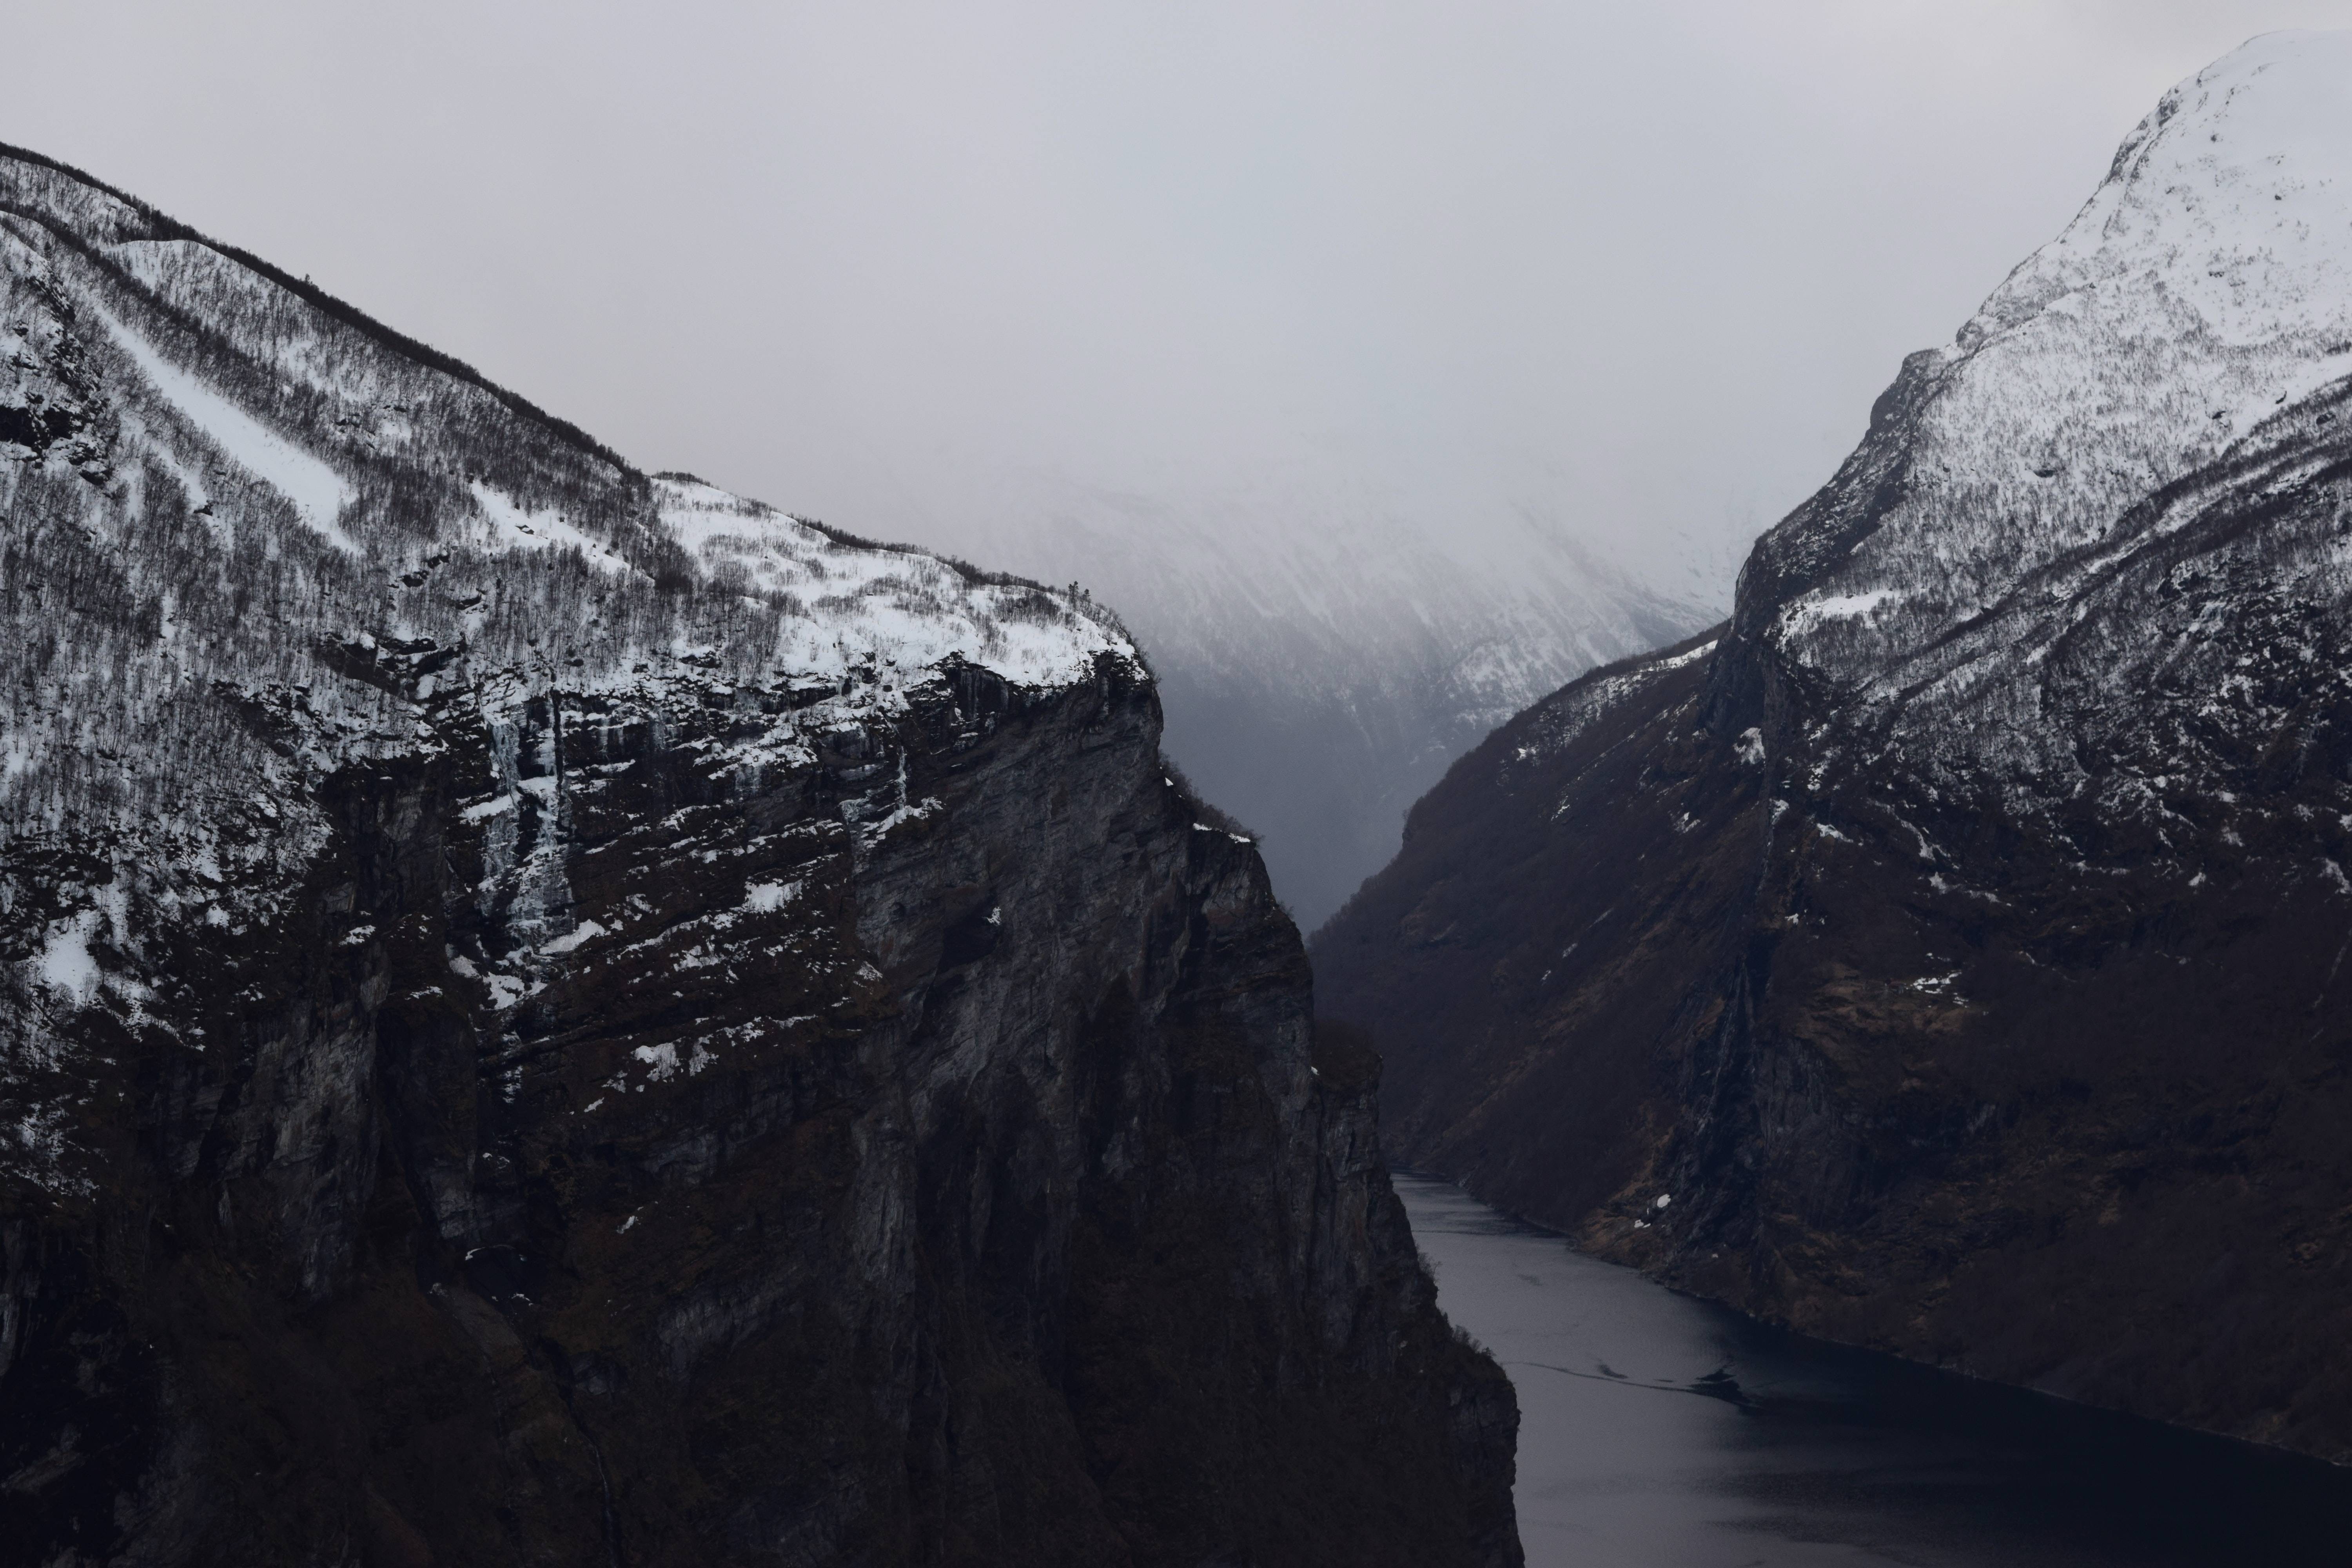
<instances>
[{"instance_id":1,"label":"calm dark fjord water at the foot of the cliffs","mask_svg":"<svg viewBox=\"0 0 2352 1568\"><path fill-rule=\"evenodd\" d=\"M2343 1472L1799 1340L1397 1192L1519 1389L1531 1568L2352 1566Z\"/></svg>"}]
</instances>

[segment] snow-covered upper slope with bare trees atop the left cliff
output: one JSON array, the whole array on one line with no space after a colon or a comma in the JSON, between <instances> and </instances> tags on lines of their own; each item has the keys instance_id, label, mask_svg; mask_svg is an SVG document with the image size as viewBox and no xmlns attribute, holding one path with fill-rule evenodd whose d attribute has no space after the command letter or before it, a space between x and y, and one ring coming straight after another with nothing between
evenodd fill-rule
<instances>
[{"instance_id":1,"label":"snow-covered upper slope with bare trees atop the left cliff","mask_svg":"<svg viewBox=\"0 0 2352 1568\"><path fill-rule=\"evenodd\" d=\"M308 284L0 153L0 1074L26 1171L71 1117L28 1074L66 1039L174 1030L139 954L268 922L336 769L555 691L786 691L814 743L950 656L1051 686L1129 651L1084 597L635 473Z\"/></svg>"}]
</instances>

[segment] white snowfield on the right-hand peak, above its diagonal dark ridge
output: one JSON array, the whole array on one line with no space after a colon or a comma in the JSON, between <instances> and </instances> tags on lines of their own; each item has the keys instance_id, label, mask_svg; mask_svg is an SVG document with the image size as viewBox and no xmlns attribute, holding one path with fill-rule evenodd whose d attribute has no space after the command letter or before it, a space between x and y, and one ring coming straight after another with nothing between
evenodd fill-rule
<instances>
[{"instance_id":1,"label":"white snowfield on the right-hand peak, above its diagonal dark ridge","mask_svg":"<svg viewBox=\"0 0 2352 1568\"><path fill-rule=\"evenodd\" d=\"M1769 632L1865 701L2352 374L2352 33L2270 33L2164 94L1929 374L1903 501Z\"/></svg>"}]
</instances>

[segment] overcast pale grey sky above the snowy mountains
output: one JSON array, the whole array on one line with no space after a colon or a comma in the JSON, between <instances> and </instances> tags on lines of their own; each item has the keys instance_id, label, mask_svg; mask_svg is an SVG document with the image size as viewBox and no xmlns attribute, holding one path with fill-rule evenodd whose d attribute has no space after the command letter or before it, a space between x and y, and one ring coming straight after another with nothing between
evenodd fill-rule
<instances>
[{"instance_id":1,"label":"overcast pale grey sky above the snowy mountains","mask_svg":"<svg viewBox=\"0 0 2352 1568\"><path fill-rule=\"evenodd\" d=\"M858 531L1277 465L1642 559L1799 501L2279 26L2352 0L78 0L0 139Z\"/></svg>"}]
</instances>

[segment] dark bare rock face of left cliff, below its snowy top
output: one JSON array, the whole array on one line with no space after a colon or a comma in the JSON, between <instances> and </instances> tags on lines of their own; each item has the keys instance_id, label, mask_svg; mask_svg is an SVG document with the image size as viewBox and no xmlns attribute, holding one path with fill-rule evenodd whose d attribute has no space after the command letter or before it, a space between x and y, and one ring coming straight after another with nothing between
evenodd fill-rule
<instances>
[{"instance_id":1,"label":"dark bare rock face of left cliff, below its snowy top","mask_svg":"<svg viewBox=\"0 0 2352 1568\"><path fill-rule=\"evenodd\" d=\"M216 1046L118 1034L99 1185L7 1197L19 1561L1517 1561L1510 1387L1131 670L967 670L750 797L708 743L757 715L560 710L527 832L670 936L501 1041L445 957L513 940L463 696L322 780L296 914L174 966ZM938 809L861 844L877 762Z\"/></svg>"}]
</instances>

